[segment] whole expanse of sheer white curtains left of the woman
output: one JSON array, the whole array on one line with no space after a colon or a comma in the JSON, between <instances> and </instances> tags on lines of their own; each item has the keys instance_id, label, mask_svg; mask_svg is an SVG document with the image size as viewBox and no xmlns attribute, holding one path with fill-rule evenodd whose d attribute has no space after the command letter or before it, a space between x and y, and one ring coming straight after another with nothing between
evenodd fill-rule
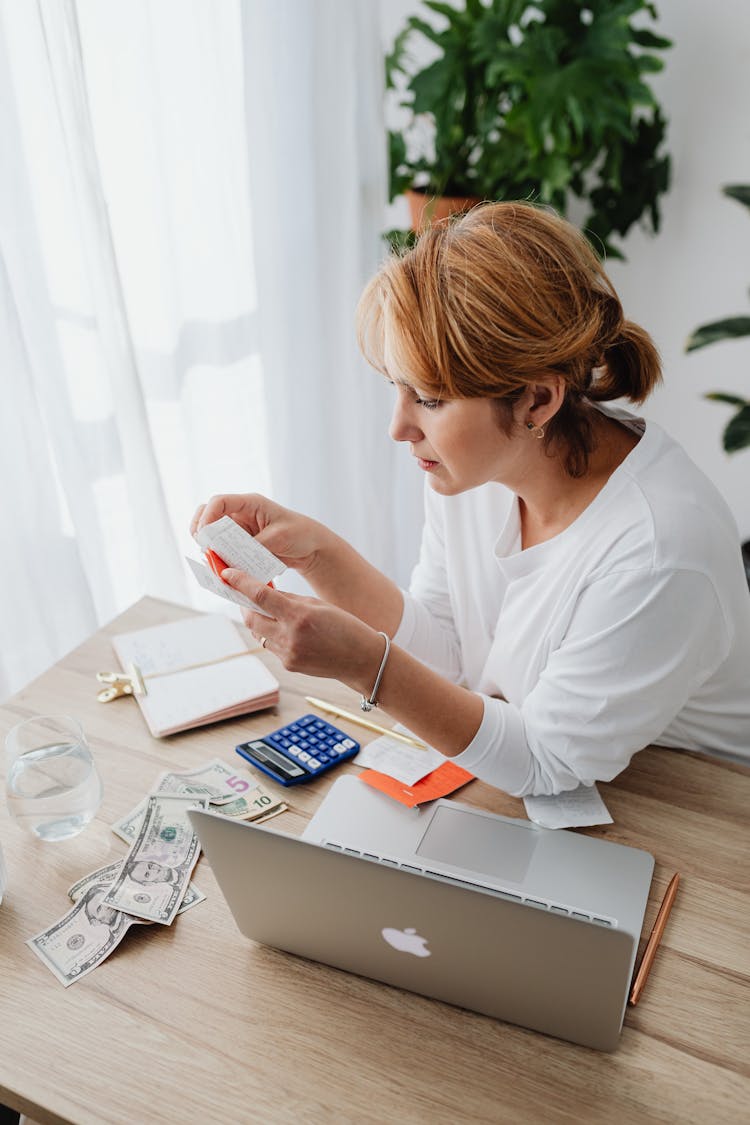
<instances>
[{"instance_id":1,"label":"whole expanse of sheer white curtains left of the woman","mask_svg":"<svg viewBox=\"0 0 750 1125\"><path fill-rule=\"evenodd\" d=\"M213 492L405 577L416 483L353 334L382 252L376 11L0 0L0 696L144 593L222 609L182 559Z\"/></svg>"}]
</instances>

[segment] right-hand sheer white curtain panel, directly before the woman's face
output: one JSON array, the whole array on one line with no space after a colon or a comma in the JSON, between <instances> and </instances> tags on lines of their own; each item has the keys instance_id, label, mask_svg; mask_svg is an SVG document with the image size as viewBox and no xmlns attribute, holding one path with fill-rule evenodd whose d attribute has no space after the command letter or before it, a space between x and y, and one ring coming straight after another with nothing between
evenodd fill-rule
<instances>
[{"instance_id":1,"label":"right-hand sheer white curtain panel, directly before the woman's face","mask_svg":"<svg viewBox=\"0 0 750 1125\"><path fill-rule=\"evenodd\" d=\"M399 483L390 388L354 334L385 252L378 15L370 0L249 0L245 99L274 485L404 578L416 482Z\"/></svg>"}]
</instances>

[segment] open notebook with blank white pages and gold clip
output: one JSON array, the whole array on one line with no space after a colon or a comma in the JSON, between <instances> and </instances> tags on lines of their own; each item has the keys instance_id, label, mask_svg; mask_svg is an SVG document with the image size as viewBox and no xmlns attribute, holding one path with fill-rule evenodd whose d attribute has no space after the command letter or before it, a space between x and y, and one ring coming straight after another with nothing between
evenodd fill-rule
<instances>
[{"instance_id":1,"label":"open notebook with blank white pages and gold clip","mask_svg":"<svg viewBox=\"0 0 750 1125\"><path fill-rule=\"evenodd\" d=\"M156 738L260 711L279 702L279 682L220 614L200 614L112 637L124 668L137 665L136 695Z\"/></svg>"}]
</instances>

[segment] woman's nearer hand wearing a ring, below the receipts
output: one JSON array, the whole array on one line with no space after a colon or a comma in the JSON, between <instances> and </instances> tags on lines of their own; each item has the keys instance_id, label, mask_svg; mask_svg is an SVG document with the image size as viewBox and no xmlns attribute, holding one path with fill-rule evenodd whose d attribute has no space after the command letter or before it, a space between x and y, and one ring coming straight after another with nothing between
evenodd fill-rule
<instances>
[{"instance_id":1,"label":"woman's nearer hand wearing a ring, below the receipts","mask_svg":"<svg viewBox=\"0 0 750 1125\"><path fill-rule=\"evenodd\" d=\"M352 613L316 597L274 590L229 567L222 578L264 613L243 610L245 624L289 672L341 680L356 691L372 686L382 637Z\"/></svg>"}]
</instances>

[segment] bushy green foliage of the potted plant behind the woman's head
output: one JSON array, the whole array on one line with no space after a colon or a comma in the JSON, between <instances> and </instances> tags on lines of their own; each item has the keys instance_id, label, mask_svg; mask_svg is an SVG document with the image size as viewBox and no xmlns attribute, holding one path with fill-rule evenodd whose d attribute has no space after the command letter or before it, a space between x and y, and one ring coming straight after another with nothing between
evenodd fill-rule
<instances>
[{"instance_id":1,"label":"bushy green foliage of the potted plant behind the woman's head","mask_svg":"<svg viewBox=\"0 0 750 1125\"><path fill-rule=\"evenodd\" d=\"M665 118L648 86L671 46L640 24L648 0L424 0L386 58L401 112L389 132L390 198L534 199L588 207L597 250L642 219L659 228L669 184ZM433 18L437 18L437 22ZM633 26L633 20L639 26ZM432 45L421 63L414 43ZM431 217L427 208L426 219ZM415 216L415 225L425 220ZM391 232L399 241L399 232ZM401 233L403 237L403 233Z\"/></svg>"}]
</instances>

